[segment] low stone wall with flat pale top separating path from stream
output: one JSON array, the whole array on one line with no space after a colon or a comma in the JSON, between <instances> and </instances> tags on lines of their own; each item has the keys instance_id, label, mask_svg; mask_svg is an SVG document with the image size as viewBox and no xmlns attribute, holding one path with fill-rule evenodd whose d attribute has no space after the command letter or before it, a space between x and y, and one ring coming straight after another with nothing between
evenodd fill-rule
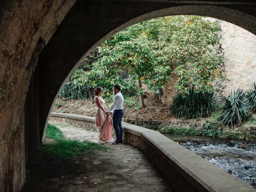
<instances>
[{"instance_id":1,"label":"low stone wall with flat pale top separating path from stream","mask_svg":"<svg viewBox=\"0 0 256 192\"><path fill-rule=\"evenodd\" d=\"M93 117L52 113L95 124ZM124 143L140 148L177 192L256 192L254 188L154 130L122 123Z\"/></svg>"}]
</instances>

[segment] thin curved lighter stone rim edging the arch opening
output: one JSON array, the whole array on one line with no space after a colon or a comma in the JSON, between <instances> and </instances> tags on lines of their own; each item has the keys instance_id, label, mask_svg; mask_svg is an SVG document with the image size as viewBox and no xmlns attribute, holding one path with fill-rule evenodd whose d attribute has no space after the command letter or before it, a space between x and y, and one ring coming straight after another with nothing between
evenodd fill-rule
<instances>
[{"instance_id":1,"label":"thin curved lighter stone rim edging the arch opening","mask_svg":"<svg viewBox=\"0 0 256 192\"><path fill-rule=\"evenodd\" d=\"M129 26L137 24L139 22L143 22L153 18L172 16L172 15L199 15L199 16L208 16L212 18L217 18L220 20L224 20L226 22L230 22L237 26L240 26L248 30L249 32L252 32L253 34L256 34L256 22L254 22L255 17L247 13L244 13L240 10L235 10L232 8L226 8L222 6L216 6L216 5L182 5L182 6L173 6L173 7L163 8L163 9L156 8L155 11L151 11L141 16L138 16L136 18L132 18L131 20L128 20L124 24L117 26L114 30L111 30L104 37L100 38L100 40L95 42L95 44L93 44L86 51L86 53L81 58L79 58L78 62L76 60L74 61L74 64L75 63L76 64L72 66L73 67L72 70L69 71L65 79L72 73L72 71L77 66L77 64L82 60L82 58L88 56L88 54L90 54L90 52L92 52L97 46L99 46L102 42L104 42L104 40L110 38L117 32L125 28L128 28ZM62 84L60 87L63 86L65 79L62 79ZM58 95L57 93L58 92L56 92L55 94L54 100ZM53 101L52 101L52 105L50 107L49 112L53 107ZM48 113L47 119L49 118L49 116L50 114ZM46 124L44 125L44 132L45 132L45 129L46 129ZM44 133L42 134L42 137L44 137Z\"/></svg>"}]
</instances>

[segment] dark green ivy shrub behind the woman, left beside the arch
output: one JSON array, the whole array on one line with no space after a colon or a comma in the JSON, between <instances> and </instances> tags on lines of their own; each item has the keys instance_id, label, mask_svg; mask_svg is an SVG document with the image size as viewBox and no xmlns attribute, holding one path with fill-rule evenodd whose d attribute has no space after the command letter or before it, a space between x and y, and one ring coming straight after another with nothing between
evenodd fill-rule
<instances>
[{"instance_id":1,"label":"dark green ivy shrub behind the woman, left beside the arch","mask_svg":"<svg viewBox=\"0 0 256 192\"><path fill-rule=\"evenodd\" d=\"M67 82L62 87L59 98L70 99L89 99L90 94L85 86L75 86L72 82Z\"/></svg>"}]
</instances>

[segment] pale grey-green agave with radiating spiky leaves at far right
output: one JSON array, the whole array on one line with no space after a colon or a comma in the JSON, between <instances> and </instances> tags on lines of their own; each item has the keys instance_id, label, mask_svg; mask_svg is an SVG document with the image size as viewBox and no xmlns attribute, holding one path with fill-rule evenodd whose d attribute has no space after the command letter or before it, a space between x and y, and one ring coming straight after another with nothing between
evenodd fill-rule
<instances>
[{"instance_id":1,"label":"pale grey-green agave with radiating spiky leaves at far right","mask_svg":"<svg viewBox=\"0 0 256 192\"><path fill-rule=\"evenodd\" d=\"M221 98L223 106L221 107L220 120L224 126L234 126L241 124L250 114L251 104L246 96L246 92L237 89L231 92L228 97Z\"/></svg>"}]
</instances>

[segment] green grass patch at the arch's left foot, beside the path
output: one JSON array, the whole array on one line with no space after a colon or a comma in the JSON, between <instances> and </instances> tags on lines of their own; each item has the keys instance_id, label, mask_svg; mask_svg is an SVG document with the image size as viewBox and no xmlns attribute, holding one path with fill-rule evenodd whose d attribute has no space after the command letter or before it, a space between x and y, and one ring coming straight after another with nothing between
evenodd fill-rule
<instances>
[{"instance_id":1,"label":"green grass patch at the arch's left foot, beside the path","mask_svg":"<svg viewBox=\"0 0 256 192\"><path fill-rule=\"evenodd\" d=\"M53 154L58 158L70 159L83 154L108 150L108 147L84 140L70 140L64 138L62 132L54 125L48 124L46 137L54 139L52 143L42 146L42 152Z\"/></svg>"}]
</instances>

